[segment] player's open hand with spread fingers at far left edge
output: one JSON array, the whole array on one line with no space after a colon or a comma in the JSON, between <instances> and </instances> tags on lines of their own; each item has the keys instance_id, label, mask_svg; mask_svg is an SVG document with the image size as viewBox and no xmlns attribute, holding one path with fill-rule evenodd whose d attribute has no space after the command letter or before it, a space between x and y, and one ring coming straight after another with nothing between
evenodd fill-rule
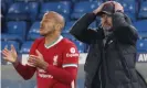
<instances>
[{"instance_id":1,"label":"player's open hand with spread fingers at far left edge","mask_svg":"<svg viewBox=\"0 0 147 88\"><path fill-rule=\"evenodd\" d=\"M2 51L3 58L8 62L15 63L18 58L18 54L13 45L11 45L11 50L9 51L7 47Z\"/></svg>"}]
</instances>

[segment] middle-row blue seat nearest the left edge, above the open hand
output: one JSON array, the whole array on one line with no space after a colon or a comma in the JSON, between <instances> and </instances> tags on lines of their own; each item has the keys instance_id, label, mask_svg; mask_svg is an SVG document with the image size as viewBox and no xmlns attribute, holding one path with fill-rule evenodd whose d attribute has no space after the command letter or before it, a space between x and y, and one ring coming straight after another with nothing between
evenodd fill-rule
<instances>
[{"instance_id":1,"label":"middle-row blue seat nearest the left edge, above the open hand","mask_svg":"<svg viewBox=\"0 0 147 88\"><path fill-rule=\"evenodd\" d=\"M19 40L22 42L25 38L28 24L24 21L10 21L7 23L8 32L2 34L1 40Z\"/></svg>"}]
</instances>

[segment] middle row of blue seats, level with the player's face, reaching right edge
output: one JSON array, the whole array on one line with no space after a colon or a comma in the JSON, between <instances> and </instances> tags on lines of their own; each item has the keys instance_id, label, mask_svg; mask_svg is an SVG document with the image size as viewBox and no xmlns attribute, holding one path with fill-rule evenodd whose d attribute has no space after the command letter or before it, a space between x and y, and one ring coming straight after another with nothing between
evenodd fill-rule
<instances>
[{"instance_id":1,"label":"middle row of blue seats, level with the player's face, reaching right edge","mask_svg":"<svg viewBox=\"0 0 147 88\"><path fill-rule=\"evenodd\" d=\"M69 36L69 38L73 38L67 33L75 22L76 21L66 22L65 28L62 31L63 36L65 37ZM134 22L134 26L137 29L140 38L147 38L146 23L147 23L147 20L140 20L140 21ZM97 24L98 22L93 22L90 25L90 28L95 29ZM30 24L28 24L24 21L7 22L6 29L3 29L6 30L6 32L1 34L1 40L4 40L4 41L15 40L22 43L25 40L35 40L36 37L40 37L40 34L39 34L40 22L36 21L32 23L31 26L29 25Z\"/></svg>"}]
</instances>

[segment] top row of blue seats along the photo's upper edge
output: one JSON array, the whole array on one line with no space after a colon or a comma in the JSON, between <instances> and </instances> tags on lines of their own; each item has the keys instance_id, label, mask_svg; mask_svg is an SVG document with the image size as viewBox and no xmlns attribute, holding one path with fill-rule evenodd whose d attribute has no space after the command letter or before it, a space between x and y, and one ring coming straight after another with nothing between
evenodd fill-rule
<instances>
[{"instance_id":1,"label":"top row of blue seats along the photo's upper edge","mask_svg":"<svg viewBox=\"0 0 147 88\"><path fill-rule=\"evenodd\" d=\"M7 13L7 20L27 20L27 21L40 21L46 11L56 11L61 13L67 21L77 20L84 13L92 12L96 9L102 1L80 1L72 4L71 1L59 2L15 2L10 6ZM123 0L123 4L126 14L128 14L133 21L136 20L136 13L138 10L138 3L134 0ZM139 10L139 18L146 18L146 2L141 3ZM4 10L4 8L3 8Z\"/></svg>"}]
</instances>

